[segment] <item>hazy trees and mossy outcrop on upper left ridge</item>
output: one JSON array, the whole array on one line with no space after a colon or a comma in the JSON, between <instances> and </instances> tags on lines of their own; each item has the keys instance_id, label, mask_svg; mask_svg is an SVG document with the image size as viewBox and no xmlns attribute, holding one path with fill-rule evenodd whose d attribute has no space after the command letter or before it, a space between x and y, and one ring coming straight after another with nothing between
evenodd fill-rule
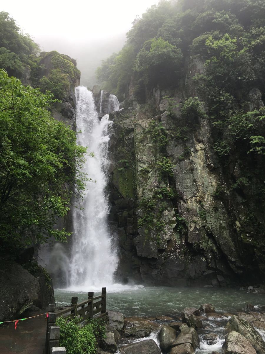
<instances>
[{"instance_id":1,"label":"hazy trees and mossy outcrop on upper left ridge","mask_svg":"<svg viewBox=\"0 0 265 354\"><path fill-rule=\"evenodd\" d=\"M69 56L56 51L40 55L39 46L7 12L0 12L0 68L42 92L51 91L58 99L67 97L71 81L80 78L76 62Z\"/></svg>"}]
</instances>

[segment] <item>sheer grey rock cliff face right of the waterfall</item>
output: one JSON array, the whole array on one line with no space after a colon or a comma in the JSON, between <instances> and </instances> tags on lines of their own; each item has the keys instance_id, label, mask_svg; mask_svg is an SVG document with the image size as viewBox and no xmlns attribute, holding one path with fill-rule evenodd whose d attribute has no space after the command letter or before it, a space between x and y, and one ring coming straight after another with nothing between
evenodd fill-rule
<instances>
[{"instance_id":1,"label":"sheer grey rock cliff face right of the waterfall","mask_svg":"<svg viewBox=\"0 0 265 354\"><path fill-rule=\"evenodd\" d=\"M175 91L156 89L142 105L131 95L131 107L110 115L110 222L118 233L117 275L124 280L229 286L264 279L262 213L251 190L231 189L242 161L235 156L224 168L208 116L181 115L186 97L200 99L191 78L202 71L196 59ZM260 91L249 89L249 110L262 107Z\"/></svg>"}]
</instances>

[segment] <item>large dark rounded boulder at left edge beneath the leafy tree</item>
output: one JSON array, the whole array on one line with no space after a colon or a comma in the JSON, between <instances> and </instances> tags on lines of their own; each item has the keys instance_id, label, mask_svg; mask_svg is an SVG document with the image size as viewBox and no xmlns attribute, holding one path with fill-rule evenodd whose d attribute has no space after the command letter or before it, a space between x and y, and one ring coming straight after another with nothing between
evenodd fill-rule
<instances>
[{"instance_id":1,"label":"large dark rounded boulder at left edge beneath the leafy tree","mask_svg":"<svg viewBox=\"0 0 265 354\"><path fill-rule=\"evenodd\" d=\"M36 278L15 262L0 263L0 321L22 314L39 299Z\"/></svg>"}]
</instances>

